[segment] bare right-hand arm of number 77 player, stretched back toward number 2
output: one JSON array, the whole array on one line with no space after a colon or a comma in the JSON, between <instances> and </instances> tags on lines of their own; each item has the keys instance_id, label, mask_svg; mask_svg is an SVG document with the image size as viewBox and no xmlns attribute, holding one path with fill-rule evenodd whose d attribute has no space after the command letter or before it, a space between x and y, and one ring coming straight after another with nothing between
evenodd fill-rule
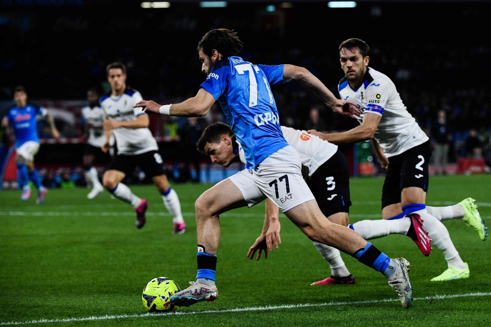
<instances>
[{"instance_id":1,"label":"bare right-hand arm of number 77 player, stretched back toward number 2","mask_svg":"<svg viewBox=\"0 0 491 327\"><path fill-rule=\"evenodd\" d=\"M355 118L354 115L360 115L357 105L350 101L336 99L334 94L329 91L326 85L324 85L317 77L303 67L284 65L283 81L285 83L291 81L299 82L307 90L317 95L319 99L321 99L326 106L331 108L334 112L338 112L352 118Z\"/></svg>"}]
</instances>

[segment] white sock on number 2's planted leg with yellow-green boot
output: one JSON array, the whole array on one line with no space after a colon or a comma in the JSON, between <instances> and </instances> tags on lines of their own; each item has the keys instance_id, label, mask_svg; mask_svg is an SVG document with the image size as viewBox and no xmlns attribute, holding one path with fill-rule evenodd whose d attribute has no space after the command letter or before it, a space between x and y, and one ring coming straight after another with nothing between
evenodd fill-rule
<instances>
[{"instance_id":1,"label":"white sock on number 2's planted leg with yellow-green boot","mask_svg":"<svg viewBox=\"0 0 491 327\"><path fill-rule=\"evenodd\" d=\"M462 261L459 252L457 252L457 249L452 243L445 225L443 225L440 220L430 215L426 208L415 211L414 214L421 216L423 227L432 239L433 245L443 252L448 267L465 269L464 261Z\"/></svg>"}]
</instances>

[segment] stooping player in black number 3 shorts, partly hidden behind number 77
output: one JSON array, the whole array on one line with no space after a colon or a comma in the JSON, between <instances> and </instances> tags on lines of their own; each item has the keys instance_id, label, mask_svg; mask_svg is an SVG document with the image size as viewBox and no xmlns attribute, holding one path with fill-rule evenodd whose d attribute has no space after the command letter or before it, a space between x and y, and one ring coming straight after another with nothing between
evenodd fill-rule
<instances>
[{"instance_id":1,"label":"stooping player in black number 3 shorts, partly hidden behind number 77","mask_svg":"<svg viewBox=\"0 0 491 327\"><path fill-rule=\"evenodd\" d=\"M323 141L318 136L307 134L306 131L285 126L281 126L281 131L286 141L299 153L302 168L308 169L307 185L314 194L324 216L333 223L348 226L350 223L351 199L350 169L346 157L338 149L337 145ZM213 163L218 163L225 167L237 161L246 164L244 149L242 149L232 130L226 124L215 123L208 126L196 145L200 152L210 156ZM241 190L244 198L252 199L247 203L249 207L266 198L262 192L250 194L250 191L257 190L257 188L254 187L254 179L248 170L245 169L239 174L231 176L230 180ZM278 248L278 243L281 243L278 209L278 206L273 201L266 198L266 217L263 231L256 242L249 248L247 256L250 259L254 257L257 250L259 252L256 260L259 260L263 250L265 251L265 258L267 258L268 253L266 250L273 251L273 243L276 248ZM409 236L423 253L429 255L430 238L424 232L419 216L410 215L410 217L405 219L408 220L412 227L409 232L406 231L400 234ZM368 221L380 225L377 220ZM385 225L399 223L397 220L382 220L382 222ZM392 227L392 229L394 228ZM423 232L415 233L419 229ZM363 236L361 235L361 237ZM329 264L332 275L311 285L355 283L355 277L346 268L338 249L315 241L313 243Z\"/></svg>"}]
</instances>

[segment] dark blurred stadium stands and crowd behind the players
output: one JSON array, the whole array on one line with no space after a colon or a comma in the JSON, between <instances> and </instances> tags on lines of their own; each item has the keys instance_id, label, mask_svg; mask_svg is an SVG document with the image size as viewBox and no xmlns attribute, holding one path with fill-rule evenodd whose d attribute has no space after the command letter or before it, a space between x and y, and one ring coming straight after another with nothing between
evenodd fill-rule
<instances>
[{"instance_id":1,"label":"dark blurred stadium stands and crowd behind the players","mask_svg":"<svg viewBox=\"0 0 491 327\"><path fill-rule=\"evenodd\" d=\"M370 66L396 83L409 112L432 138L433 157L438 147L448 160L445 171L434 163L431 172L489 172L490 3L394 0L338 6L327 1L0 0L0 117L13 105L13 88L26 86L29 102L47 108L61 134L59 141L51 139L45 122L39 122L43 140L35 162L44 184L84 187L81 108L89 88L109 91L109 62L126 64L127 85L145 99L182 101L204 80L197 42L206 31L226 27L239 32L246 60L304 66L337 94L343 76L337 47L358 37L371 47ZM273 93L282 125L341 131L357 124L333 115L297 83L273 87ZM151 117L174 182L217 182L242 168L210 164L194 150L202 130L222 120L218 104L199 119ZM2 129L4 189L17 187L12 145L13 136ZM369 142L346 146L344 152L354 176L383 174ZM104 164L98 169L102 173ZM138 171L129 179L147 182Z\"/></svg>"}]
</instances>

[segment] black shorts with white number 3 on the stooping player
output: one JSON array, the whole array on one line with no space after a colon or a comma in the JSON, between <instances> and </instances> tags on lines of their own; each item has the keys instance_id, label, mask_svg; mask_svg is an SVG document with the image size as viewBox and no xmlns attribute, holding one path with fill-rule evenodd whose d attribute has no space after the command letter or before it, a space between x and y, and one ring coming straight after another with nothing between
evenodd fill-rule
<instances>
[{"instance_id":1,"label":"black shorts with white number 3 on the stooping player","mask_svg":"<svg viewBox=\"0 0 491 327\"><path fill-rule=\"evenodd\" d=\"M306 182L324 216L350 212L350 167L340 150L317 168Z\"/></svg>"}]
</instances>

